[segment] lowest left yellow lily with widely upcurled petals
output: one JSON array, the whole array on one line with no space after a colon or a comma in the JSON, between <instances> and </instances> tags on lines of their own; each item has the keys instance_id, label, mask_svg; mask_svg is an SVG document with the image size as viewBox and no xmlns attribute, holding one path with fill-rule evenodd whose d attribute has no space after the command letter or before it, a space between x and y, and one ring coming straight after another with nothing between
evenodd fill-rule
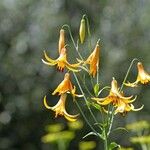
<instances>
[{"instance_id":1,"label":"lowest left yellow lily with widely upcurled petals","mask_svg":"<svg viewBox=\"0 0 150 150\"><path fill-rule=\"evenodd\" d=\"M51 107L47 104L47 100L46 100L46 96L44 97L44 106L47 108L47 109L50 109L52 111L55 112L55 117L57 117L58 115L60 116L64 116L68 121L76 121L77 120L77 115L70 115L67 113L66 111L66 108L65 108L65 103L66 103L66 98L67 98L67 94L62 94L60 96L60 99L58 101L58 103Z\"/></svg>"}]
</instances>

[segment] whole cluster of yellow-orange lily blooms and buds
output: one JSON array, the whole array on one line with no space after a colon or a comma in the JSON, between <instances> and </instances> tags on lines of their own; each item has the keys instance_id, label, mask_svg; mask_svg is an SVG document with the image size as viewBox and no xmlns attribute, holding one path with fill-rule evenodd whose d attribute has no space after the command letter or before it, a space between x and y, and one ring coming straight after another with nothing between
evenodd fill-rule
<instances>
[{"instance_id":1,"label":"whole cluster of yellow-orange lily blooms and buds","mask_svg":"<svg viewBox=\"0 0 150 150\"><path fill-rule=\"evenodd\" d=\"M85 33L86 33L86 24L85 24L85 18L83 17L80 24L79 29L79 37L81 44L85 41ZM72 38L72 36L71 36ZM73 41L75 44L75 42ZM91 54L84 60L82 56L80 55L78 49L78 45L75 46L76 51L78 52L80 58L77 58L77 63L71 64L68 62L68 55L67 55L67 44L65 40L65 30L62 27L60 30L59 35L59 42L58 42L58 58L52 59L50 58L46 51L44 51L44 59L42 59L42 62L49 66L57 66L58 71L63 72L64 69L68 70L65 73L64 80L57 86L57 88L54 90L52 95L58 94L60 96L60 99L58 103L50 107L47 104L46 96L44 97L44 105L47 109L53 110L56 113L56 117L58 115L64 116L69 121L75 121L77 119L77 115L70 115L67 113L65 109L67 94L71 94L73 98L75 97L84 97L85 100L87 100L87 97L84 95L85 93L80 89L82 92L82 95L76 94L76 87L72 85L71 79L70 79L70 72L73 72L74 74L76 72L80 72L83 68L88 71L89 75L92 78L95 78L96 75L98 76L99 71L99 61L100 61L100 45L99 40L96 43L96 46L94 50L91 52ZM88 67L89 65L89 67ZM139 83L141 84L147 84L150 82L150 75L144 70L144 67L141 62L137 63L138 68L138 75L135 82L130 83L123 83L122 85L130 86L130 87L137 87ZM97 82L97 84L99 84ZM80 86L79 86L80 87ZM99 98L98 96L92 97L92 100L102 106L103 110L105 112L108 112L106 109L106 106L112 105L114 108L114 114L121 113L126 114L129 111L139 111L143 108L143 105L140 108L135 109L134 105L132 104L136 100L136 96L126 96L124 92L122 91L122 87L118 87L117 80L113 77L111 82L111 88L109 91L108 96L104 98Z\"/></svg>"}]
</instances>

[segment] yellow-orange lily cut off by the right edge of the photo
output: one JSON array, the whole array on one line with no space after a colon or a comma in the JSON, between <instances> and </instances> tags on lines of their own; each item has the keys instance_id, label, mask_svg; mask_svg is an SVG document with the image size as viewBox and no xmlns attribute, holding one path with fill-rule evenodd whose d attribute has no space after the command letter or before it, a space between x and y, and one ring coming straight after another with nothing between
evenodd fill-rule
<instances>
[{"instance_id":1,"label":"yellow-orange lily cut off by the right edge of the photo","mask_svg":"<svg viewBox=\"0 0 150 150\"><path fill-rule=\"evenodd\" d=\"M133 83L125 83L126 86L130 86L130 87L137 87L137 84L140 82L141 84L147 84L150 82L150 74L148 74L143 67L143 64L141 62L138 62L137 64L137 68L138 68L138 75L137 75L137 79L135 82Z\"/></svg>"}]
</instances>

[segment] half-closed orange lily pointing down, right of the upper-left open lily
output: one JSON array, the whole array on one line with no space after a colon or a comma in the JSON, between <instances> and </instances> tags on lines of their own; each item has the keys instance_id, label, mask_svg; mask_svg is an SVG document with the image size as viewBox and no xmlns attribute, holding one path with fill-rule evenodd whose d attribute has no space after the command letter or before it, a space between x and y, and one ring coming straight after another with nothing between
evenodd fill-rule
<instances>
[{"instance_id":1,"label":"half-closed orange lily pointing down, right of the upper-left open lily","mask_svg":"<svg viewBox=\"0 0 150 150\"><path fill-rule=\"evenodd\" d=\"M90 54L90 56L85 61L85 64L90 65L90 75L95 77L97 68L99 67L99 54L100 54L100 46L97 42L94 51Z\"/></svg>"}]
</instances>

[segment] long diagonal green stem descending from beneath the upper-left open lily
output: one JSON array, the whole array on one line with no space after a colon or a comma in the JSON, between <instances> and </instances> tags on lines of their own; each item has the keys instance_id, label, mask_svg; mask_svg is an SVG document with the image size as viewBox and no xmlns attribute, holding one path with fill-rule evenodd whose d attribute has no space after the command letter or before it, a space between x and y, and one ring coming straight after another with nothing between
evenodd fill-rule
<instances>
[{"instance_id":1,"label":"long diagonal green stem descending from beneath the upper-left open lily","mask_svg":"<svg viewBox=\"0 0 150 150\"><path fill-rule=\"evenodd\" d=\"M98 121L96 120L96 118L95 118L95 116L94 116L94 114L93 114L91 108L90 108L89 105L88 105L88 101L87 101L87 99L86 99L86 97L85 97L85 95L84 95L84 92L83 92L82 87L81 87L81 85L80 85L80 83L79 83L79 80L78 80L78 78L77 78L77 76L76 76L76 74L75 74L74 72L73 72L73 75L74 75L74 77L75 77L75 79L76 79L76 81L77 81L77 84L78 84L78 86L79 86L79 89L80 89L80 91L81 91L81 93L82 93L82 95L83 95L83 98L84 98L85 102L86 102L87 108L88 108L89 112L91 113L91 116L93 117L94 121L95 121L96 123L98 123Z\"/></svg>"}]
</instances>

